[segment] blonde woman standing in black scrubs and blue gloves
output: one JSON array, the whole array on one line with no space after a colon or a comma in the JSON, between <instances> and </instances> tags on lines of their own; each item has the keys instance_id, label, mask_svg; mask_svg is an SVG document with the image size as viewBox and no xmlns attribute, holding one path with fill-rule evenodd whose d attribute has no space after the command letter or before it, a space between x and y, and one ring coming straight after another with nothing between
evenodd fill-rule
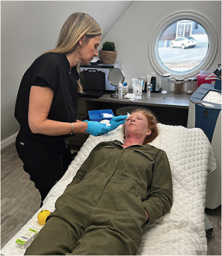
<instances>
[{"instance_id":1,"label":"blonde woman standing in black scrubs and blue gloves","mask_svg":"<svg viewBox=\"0 0 222 256\"><path fill-rule=\"evenodd\" d=\"M78 92L82 92L77 65L87 65L98 56L101 33L88 14L73 13L61 29L56 49L38 57L22 77L15 106L20 124L16 147L41 202L71 163L68 136L105 134L126 118L113 118L111 127L77 120Z\"/></svg>"}]
</instances>

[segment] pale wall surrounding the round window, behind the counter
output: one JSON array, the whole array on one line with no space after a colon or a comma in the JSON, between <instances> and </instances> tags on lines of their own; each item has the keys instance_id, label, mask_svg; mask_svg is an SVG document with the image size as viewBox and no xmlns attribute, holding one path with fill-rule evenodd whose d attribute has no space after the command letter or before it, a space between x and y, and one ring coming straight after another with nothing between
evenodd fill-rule
<instances>
[{"instance_id":1,"label":"pale wall surrounding the round window, behind the counter","mask_svg":"<svg viewBox=\"0 0 222 256\"><path fill-rule=\"evenodd\" d=\"M221 63L221 1L134 1L103 39L103 42L115 42L117 61L122 63L127 82L132 77L155 72L148 56L148 44L154 29L160 20L181 10L202 13L214 25L218 32L218 53L208 69L213 71L218 67ZM161 82L161 77L156 76Z\"/></svg>"}]
</instances>

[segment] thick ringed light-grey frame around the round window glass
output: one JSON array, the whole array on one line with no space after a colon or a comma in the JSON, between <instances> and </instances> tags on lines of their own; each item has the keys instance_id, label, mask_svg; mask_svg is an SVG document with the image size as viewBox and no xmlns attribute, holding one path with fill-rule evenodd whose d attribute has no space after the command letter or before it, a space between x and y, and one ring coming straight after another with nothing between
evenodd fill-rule
<instances>
[{"instance_id":1,"label":"thick ringed light-grey frame around the round window glass","mask_svg":"<svg viewBox=\"0 0 222 256\"><path fill-rule=\"evenodd\" d=\"M176 72L165 67L165 65L163 65L163 63L161 62L158 54L158 42L159 38L163 34L163 31L165 31L165 29L168 28L168 26L183 19L193 20L205 29L207 36L209 38L209 49L207 51L205 58L197 67L184 72ZM154 70L160 76L161 74L170 73L172 74L172 78L184 77L186 79L188 77L197 76L197 74L200 73L200 70L207 70L207 68L211 66L212 62L214 61L214 58L216 57L217 52L218 34L216 33L216 29L212 25L212 22L206 17L204 17L202 13L193 12L189 10L172 13L165 17L163 20L161 20L154 29L154 32L151 36L151 40L148 44L148 58L150 59L151 65L154 68Z\"/></svg>"}]
</instances>

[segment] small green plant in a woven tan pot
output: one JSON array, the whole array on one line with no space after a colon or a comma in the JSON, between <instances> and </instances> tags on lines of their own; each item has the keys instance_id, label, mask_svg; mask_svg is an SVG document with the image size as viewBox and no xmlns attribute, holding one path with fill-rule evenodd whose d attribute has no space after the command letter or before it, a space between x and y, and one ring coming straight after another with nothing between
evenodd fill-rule
<instances>
[{"instance_id":1,"label":"small green plant in a woven tan pot","mask_svg":"<svg viewBox=\"0 0 222 256\"><path fill-rule=\"evenodd\" d=\"M100 50L100 60L103 64L114 64L117 56L114 42L105 42Z\"/></svg>"}]
</instances>

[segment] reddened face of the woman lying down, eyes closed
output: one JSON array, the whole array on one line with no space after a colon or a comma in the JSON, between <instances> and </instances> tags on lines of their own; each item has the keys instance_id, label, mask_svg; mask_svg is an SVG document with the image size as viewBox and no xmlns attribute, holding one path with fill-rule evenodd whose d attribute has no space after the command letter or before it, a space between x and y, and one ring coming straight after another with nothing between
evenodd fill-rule
<instances>
[{"instance_id":1,"label":"reddened face of the woman lying down, eyes closed","mask_svg":"<svg viewBox=\"0 0 222 256\"><path fill-rule=\"evenodd\" d=\"M144 114L140 112L133 113L126 119L125 135L138 134L146 136L151 134L151 130L148 127L148 121Z\"/></svg>"}]
</instances>

